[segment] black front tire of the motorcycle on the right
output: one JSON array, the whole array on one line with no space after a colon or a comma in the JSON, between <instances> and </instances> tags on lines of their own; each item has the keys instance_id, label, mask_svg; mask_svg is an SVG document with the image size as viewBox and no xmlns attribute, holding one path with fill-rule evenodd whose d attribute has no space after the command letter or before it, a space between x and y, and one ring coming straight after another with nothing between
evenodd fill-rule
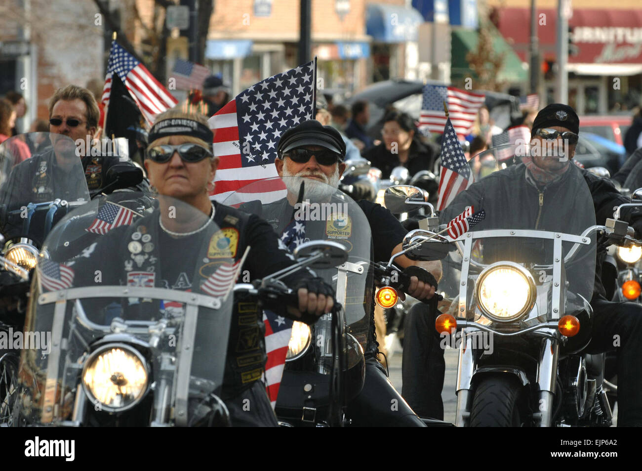
<instances>
[{"instance_id":1,"label":"black front tire of the motorcycle on the right","mask_svg":"<svg viewBox=\"0 0 642 471\"><path fill-rule=\"evenodd\" d=\"M522 427L523 387L517 378L492 375L483 378L475 390L471 427Z\"/></svg>"}]
</instances>

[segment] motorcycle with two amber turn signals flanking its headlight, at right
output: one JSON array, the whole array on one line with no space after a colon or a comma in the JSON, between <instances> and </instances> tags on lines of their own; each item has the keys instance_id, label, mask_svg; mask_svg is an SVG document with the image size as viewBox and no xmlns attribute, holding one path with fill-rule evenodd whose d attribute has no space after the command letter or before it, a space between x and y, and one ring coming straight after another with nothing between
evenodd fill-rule
<instances>
[{"instance_id":1,"label":"motorcycle with two amber turn signals flanking its headlight, at right","mask_svg":"<svg viewBox=\"0 0 642 471\"><path fill-rule=\"evenodd\" d=\"M494 156L509 147L472 159L475 181L492 175L483 169L500 170ZM448 303L435 327L444 348L459 350L459 427L612 423L604 355L581 352L591 340L596 235L612 244L634 241L627 235L628 224L618 220L619 211L605 226L595 224L593 199L581 175L574 174L568 184L577 188L571 220L542 213L544 191L538 218L528 227L511 226L508 206L501 210L508 198L487 195L498 199L493 202L496 215L487 215L482 230L453 238L456 251L442 261L444 280L458 274L440 283ZM447 215L463 209L450 208ZM546 231L539 224L563 229ZM406 245L410 240L434 244L440 238L434 231L408 236Z\"/></svg>"}]
</instances>

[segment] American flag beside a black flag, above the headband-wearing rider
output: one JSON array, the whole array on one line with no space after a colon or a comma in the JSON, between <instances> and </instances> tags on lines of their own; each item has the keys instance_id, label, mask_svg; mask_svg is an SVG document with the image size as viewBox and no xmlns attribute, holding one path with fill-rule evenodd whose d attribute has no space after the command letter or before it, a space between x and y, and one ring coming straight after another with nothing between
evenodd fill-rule
<instances>
[{"instance_id":1,"label":"American flag beside a black flag, above the headband-wearing rider","mask_svg":"<svg viewBox=\"0 0 642 471\"><path fill-rule=\"evenodd\" d=\"M102 103L105 107L109 105L114 73L125 84L129 94L134 98L134 102L136 102L145 120L150 125L157 114L174 107L178 103L178 100L171 96L143 64L119 46L116 41L112 41L107 75L105 76L105 87L103 88Z\"/></svg>"}]
</instances>

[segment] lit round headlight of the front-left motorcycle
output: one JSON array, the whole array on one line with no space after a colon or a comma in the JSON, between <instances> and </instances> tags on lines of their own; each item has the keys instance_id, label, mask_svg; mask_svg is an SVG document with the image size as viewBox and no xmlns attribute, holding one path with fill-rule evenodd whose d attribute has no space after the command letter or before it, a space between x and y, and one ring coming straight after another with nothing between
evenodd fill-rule
<instances>
[{"instance_id":1,"label":"lit round headlight of the front-left motorcycle","mask_svg":"<svg viewBox=\"0 0 642 471\"><path fill-rule=\"evenodd\" d=\"M139 351L125 344L107 344L94 351L82 372L85 394L108 412L134 407L149 384L147 362Z\"/></svg>"}]
</instances>

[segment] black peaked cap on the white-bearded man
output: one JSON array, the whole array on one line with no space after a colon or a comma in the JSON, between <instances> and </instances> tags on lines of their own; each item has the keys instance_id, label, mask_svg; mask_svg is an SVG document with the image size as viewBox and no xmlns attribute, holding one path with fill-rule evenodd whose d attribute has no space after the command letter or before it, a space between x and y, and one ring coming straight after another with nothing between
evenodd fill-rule
<instances>
[{"instance_id":1,"label":"black peaked cap on the white-bearded man","mask_svg":"<svg viewBox=\"0 0 642 471\"><path fill-rule=\"evenodd\" d=\"M345 158L345 142L341 134L333 127L324 126L317 120L303 121L300 125L287 129L281 134L277 154L282 159L284 152L308 145L325 147L339 154L341 160Z\"/></svg>"}]
</instances>

